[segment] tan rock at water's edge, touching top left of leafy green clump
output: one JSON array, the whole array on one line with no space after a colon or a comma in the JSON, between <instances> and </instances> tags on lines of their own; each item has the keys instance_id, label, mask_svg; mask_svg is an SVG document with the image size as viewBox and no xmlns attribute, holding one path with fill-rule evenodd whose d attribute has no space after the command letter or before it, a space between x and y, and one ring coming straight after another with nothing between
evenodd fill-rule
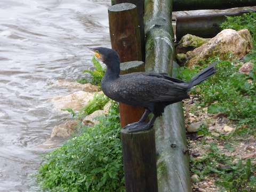
<instances>
[{"instance_id":1,"label":"tan rock at water's edge, touching top left of leafy green clump","mask_svg":"<svg viewBox=\"0 0 256 192\"><path fill-rule=\"evenodd\" d=\"M76 128L78 121L67 121L65 124L57 125L53 128L51 133L51 138L53 137L62 137L68 138L71 136L71 132L73 132Z\"/></svg>"}]
</instances>

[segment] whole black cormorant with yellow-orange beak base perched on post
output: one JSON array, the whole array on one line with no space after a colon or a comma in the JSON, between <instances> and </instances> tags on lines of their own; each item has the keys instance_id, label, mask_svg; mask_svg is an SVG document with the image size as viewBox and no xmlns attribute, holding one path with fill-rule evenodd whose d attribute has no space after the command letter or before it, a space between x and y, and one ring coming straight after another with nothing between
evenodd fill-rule
<instances>
[{"instance_id":1,"label":"whole black cormorant with yellow-orange beak base perched on post","mask_svg":"<svg viewBox=\"0 0 256 192\"><path fill-rule=\"evenodd\" d=\"M115 50L104 47L91 50L107 66L101 81L101 89L107 97L128 105L146 108L139 122L125 127L129 132L149 129L155 119L162 115L167 105L189 98L188 92L191 87L211 77L217 70L214 68L217 63L213 63L187 82L157 73L138 72L119 75L120 61ZM154 116L149 123L145 123L150 113Z\"/></svg>"}]
</instances>

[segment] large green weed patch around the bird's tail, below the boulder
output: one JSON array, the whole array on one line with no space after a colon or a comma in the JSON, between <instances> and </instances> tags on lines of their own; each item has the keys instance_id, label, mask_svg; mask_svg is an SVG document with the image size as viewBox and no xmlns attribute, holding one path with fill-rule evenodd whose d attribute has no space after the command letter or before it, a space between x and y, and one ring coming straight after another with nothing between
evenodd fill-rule
<instances>
[{"instance_id":1,"label":"large green weed patch around the bird's tail, below the boulder","mask_svg":"<svg viewBox=\"0 0 256 192\"><path fill-rule=\"evenodd\" d=\"M256 124L256 66L249 75L237 73L239 63L210 59L212 63L218 61L218 73L210 81L203 82L190 94L198 94L199 106L209 106L212 114L223 113L229 119L236 121L237 133L255 134ZM195 69L181 68L182 79L189 80L207 65L197 66ZM239 105L238 105L239 103ZM246 128L246 129L243 129Z\"/></svg>"}]
</instances>

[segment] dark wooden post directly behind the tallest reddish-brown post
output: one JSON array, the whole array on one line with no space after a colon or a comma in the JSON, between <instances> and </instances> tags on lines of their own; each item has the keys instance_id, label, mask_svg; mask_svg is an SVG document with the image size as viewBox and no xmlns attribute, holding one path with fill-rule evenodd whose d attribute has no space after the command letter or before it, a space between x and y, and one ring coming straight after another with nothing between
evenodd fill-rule
<instances>
[{"instance_id":1,"label":"dark wooden post directly behind the tallest reddish-brown post","mask_svg":"<svg viewBox=\"0 0 256 192\"><path fill-rule=\"evenodd\" d=\"M111 4L115 5L118 3L132 3L137 6L138 11L138 23L140 29L140 41L141 41L141 60L145 61L145 33L144 33L144 0L111 0Z\"/></svg>"}]
</instances>

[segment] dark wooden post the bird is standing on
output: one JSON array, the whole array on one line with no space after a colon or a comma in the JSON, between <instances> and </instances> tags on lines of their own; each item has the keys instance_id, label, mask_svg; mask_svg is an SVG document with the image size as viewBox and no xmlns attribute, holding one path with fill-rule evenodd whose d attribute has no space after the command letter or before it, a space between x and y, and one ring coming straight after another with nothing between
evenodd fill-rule
<instances>
[{"instance_id":1,"label":"dark wooden post the bird is standing on","mask_svg":"<svg viewBox=\"0 0 256 192\"><path fill-rule=\"evenodd\" d=\"M157 192L155 130L121 130L126 192Z\"/></svg>"}]
</instances>

